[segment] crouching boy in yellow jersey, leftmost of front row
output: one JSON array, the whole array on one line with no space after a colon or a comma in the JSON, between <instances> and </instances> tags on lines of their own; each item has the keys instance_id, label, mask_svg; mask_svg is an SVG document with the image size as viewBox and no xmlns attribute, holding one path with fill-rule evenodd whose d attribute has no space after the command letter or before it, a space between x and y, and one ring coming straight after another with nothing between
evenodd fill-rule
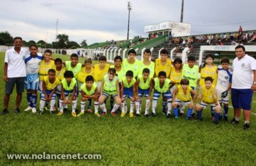
<instances>
[{"instance_id":1,"label":"crouching boy in yellow jersey, leftmost of front row","mask_svg":"<svg viewBox=\"0 0 256 166\"><path fill-rule=\"evenodd\" d=\"M44 76L42 84L42 93L39 107L39 114L42 114L44 111L45 102L51 102L50 112L55 111L55 91L57 85L60 84L60 80L55 77L55 70L51 68L48 71L48 75Z\"/></svg>"}]
</instances>

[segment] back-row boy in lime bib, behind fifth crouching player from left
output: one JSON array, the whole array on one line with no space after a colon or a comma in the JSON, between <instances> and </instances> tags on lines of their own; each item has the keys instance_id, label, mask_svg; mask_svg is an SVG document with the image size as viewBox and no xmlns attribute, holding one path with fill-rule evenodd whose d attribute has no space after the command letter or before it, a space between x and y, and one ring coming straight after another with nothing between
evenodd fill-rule
<instances>
[{"instance_id":1,"label":"back-row boy in lime bib, behind fifth crouching player from left","mask_svg":"<svg viewBox=\"0 0 256 166\"><path fill-rule=\"evenodd\" d=\"M134 73L135 78L138 76L140 61L136 59L136 50L134 49L128 50L128 58L125 58L122 61L122 66L124 66L125 73L127 71L132 71Z\"/></svg>"}]
</instances>

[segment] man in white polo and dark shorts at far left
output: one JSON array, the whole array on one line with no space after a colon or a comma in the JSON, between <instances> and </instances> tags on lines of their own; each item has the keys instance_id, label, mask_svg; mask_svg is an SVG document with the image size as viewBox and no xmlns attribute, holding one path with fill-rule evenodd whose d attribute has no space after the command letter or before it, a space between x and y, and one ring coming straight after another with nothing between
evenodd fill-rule
<instances>
[{"instance_id":1,"label":"man in white polo and dark shorts at far left","mask_svg":"<svg viewBox=\"0 0 256 166\"><path fill-rule=\"evenodd\" d=\"M14 48L6 50L6 57L4 59L4 75L3 80L6 82L6 94L4 95L4 109L1 115L8 113L8 104L10 95L16 84L16 104L15 113L19 113L19 104L21 103L22 93L24 92L25 77L26 77L26 65L24 62L25 56L28 55L29 51L21 48L22 38L14 38Z\"/></svg>"}]
</instances>

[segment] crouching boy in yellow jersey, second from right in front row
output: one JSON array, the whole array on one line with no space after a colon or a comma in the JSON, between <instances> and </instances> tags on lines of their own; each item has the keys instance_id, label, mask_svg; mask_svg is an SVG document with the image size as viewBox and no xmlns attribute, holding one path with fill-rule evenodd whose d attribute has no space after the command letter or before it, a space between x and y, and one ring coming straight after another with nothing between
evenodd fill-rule
<instances>
[{"instance_id":1,"label":"crouching boy in yellow jersey, second from right in front row","mask_svg":"<svg viewBox=\"0 0 256 166\"><path fill-rule=\"evenodd\" d=\"M196 91L190 87L190 81L183 78L178 86L174 89L172 93L172 107L174 110L174 118L178 118L179 111L178 105L188 105L188 113L186 119L190 119L191 113L194 108L194 101L197 98ZM191 96L193 94L193 98ZM170 118L171 114L167 113L167 118Z\"/></svg>"}]
</instances>

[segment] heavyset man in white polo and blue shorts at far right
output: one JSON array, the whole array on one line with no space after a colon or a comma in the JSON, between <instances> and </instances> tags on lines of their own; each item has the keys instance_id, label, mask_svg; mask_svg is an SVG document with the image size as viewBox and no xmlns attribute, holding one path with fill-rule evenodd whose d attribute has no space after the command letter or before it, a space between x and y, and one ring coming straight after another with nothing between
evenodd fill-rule
<instances>
[{"instance_id":1,"label":"heavyset man in white polo and blue shorts at far right","mask_svg":"<svg viewBox=\"0 0 256 166\"><path fill-rule=\"evenodd\" d=\"M241 109L244 111L244 129L250 129L251 102L256 90L256 60L246 54L244 46L235 47L237 56L233 63L231 100L234 107L232 124L239 123Z\"/></svg>"}]
</instances>

